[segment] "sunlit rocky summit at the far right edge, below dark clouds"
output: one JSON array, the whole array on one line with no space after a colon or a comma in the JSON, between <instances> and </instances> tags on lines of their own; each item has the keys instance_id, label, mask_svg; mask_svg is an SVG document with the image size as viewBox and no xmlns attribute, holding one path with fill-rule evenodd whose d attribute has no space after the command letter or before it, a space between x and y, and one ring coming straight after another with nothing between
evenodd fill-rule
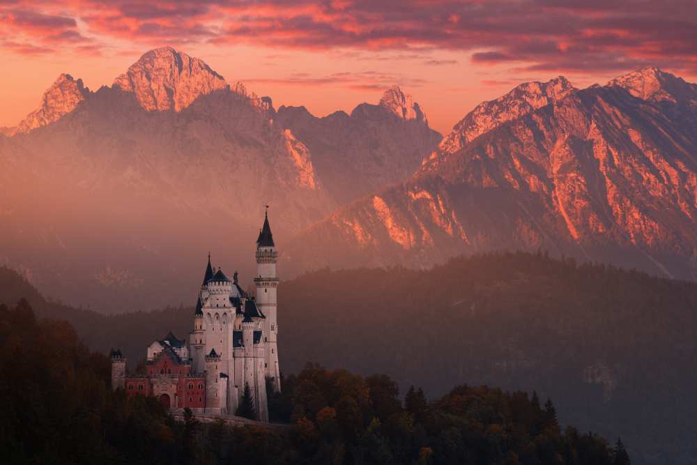
<instances>
[{"instance_id":1,"label":"sunlit rocky summit at the far right edge, below dark clouds","mask_svg":"<svg viewBox=\"0 0 697 465\"><path fill-rule=\"evenodd\" d=\"M616 77L607 84L611 87L621 87L636 98L653 102L677 102L687 100L697 105L697 85L689 84L680 77L665 73L659 68L648 66L626 75Z\"/></svg>"}]
</instances>

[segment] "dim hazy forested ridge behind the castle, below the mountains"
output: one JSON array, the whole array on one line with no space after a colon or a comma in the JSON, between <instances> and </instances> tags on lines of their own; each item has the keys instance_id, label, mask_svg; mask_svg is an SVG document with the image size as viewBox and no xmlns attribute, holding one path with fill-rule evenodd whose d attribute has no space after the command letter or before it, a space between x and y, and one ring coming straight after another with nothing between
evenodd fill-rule
<instances>
[{"instance_id":1,"label":"dim hazy forested ridge behind the castle, below the mountains","mask_svg":"<svg viewBox=\"0 0 697 465\"><path fill-rule=\"evenodd\" d=\"M121 346L135 365L167 330L183 337L193 310L37 312L66 317L96 349ZM386 373L430 397L461 383L536 389L558 402L562 422L622 436L639 464L697 462L696 336L697 284L544 254L319 270L279 287L286 373L311 360Z\"/></svg>"}]
</instances>

